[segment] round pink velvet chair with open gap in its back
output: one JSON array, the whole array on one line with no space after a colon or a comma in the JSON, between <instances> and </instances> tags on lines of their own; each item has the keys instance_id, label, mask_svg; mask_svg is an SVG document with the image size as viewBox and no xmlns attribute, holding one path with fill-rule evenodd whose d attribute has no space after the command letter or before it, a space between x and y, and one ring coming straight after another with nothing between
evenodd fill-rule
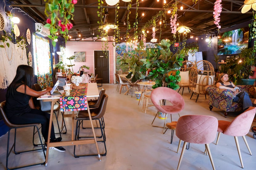
<instances>
[{"instance_id":1,"label":"round pink velvet chair with open gap in its back","mask_svg":"<svg viewBox=\"0 0 256 170\"><path fill-rule=\"evenodd\" d=\"M171 104L173 106L171 106L171 105L163 106L162 104L160 105L160 103L162 103L163 100L167 100L167 101L171 102ZM152 101L153 105L156 107L156 110L158 112L165 113L165 116L167 114L179 114L179 112L181 112L185 106L185 102L184 102L184 99L182 98L182 96L179 93L177 93L175 90L172 90L168 87L155 88L151 92L151 101ZM158 113L156 113L155 118L156 118L157 114ZM155 118L154 118L153 122L151 123L151 126L153 126ZM167 127L167 129L165 130L165 121L166 121L166 119L164 119L163 127L154 126L154 127L163 128L163 134L168 129L168 127ZM172 120L171 120L171 122L172 122ZM173 130L175 130L175 129L172 129L172 134L173 134ZM171 137L171 140L172 140L172 137Z\"/></svg>"}]
</instances>

